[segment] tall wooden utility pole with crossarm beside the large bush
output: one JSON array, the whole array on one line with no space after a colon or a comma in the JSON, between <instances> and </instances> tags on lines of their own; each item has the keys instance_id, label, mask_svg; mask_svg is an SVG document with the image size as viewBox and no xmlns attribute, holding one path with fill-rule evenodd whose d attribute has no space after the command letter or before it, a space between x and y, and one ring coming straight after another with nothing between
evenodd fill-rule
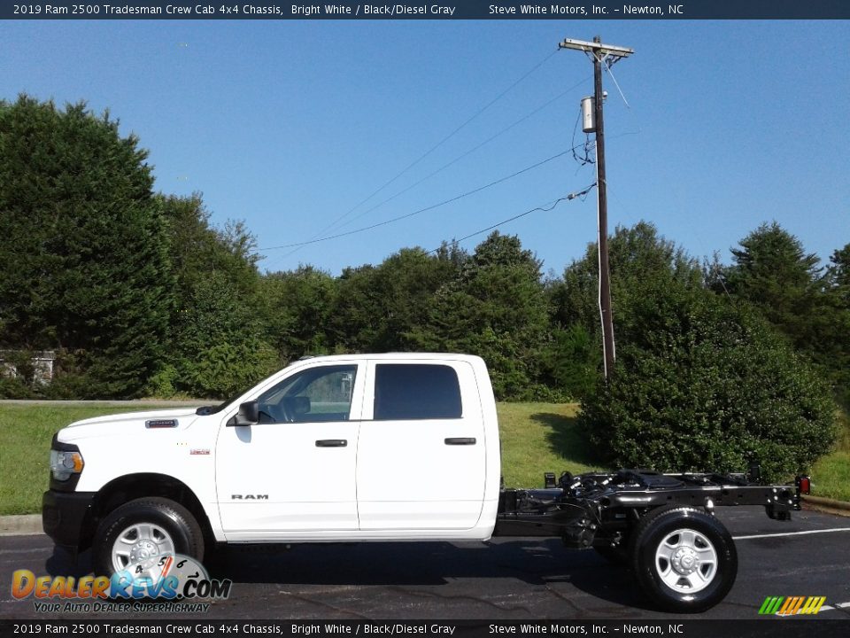
<instances>
[{"instance_id":1,"label":"tall wooden utility pole with crossarm beside the large bush","mask_svg":"<svg viewBox=\"0 0 850 638\"><path fill-rule=\"evenodd\" d=\"M599 315L602 321L602 357L605 378L614 370L614 320L611 315L611 286L608 269L608 196L605 176L605 123L602 119L602 103L605 93L602 91L602 65L609 67L629 57L634 51L625 47L603 44L599 35L593 42L566 39L558 45L559 49L584 51L593 58L593 123L585 131L596 131L596 188L599 195Z\"/></svg>"}]
</instances>

